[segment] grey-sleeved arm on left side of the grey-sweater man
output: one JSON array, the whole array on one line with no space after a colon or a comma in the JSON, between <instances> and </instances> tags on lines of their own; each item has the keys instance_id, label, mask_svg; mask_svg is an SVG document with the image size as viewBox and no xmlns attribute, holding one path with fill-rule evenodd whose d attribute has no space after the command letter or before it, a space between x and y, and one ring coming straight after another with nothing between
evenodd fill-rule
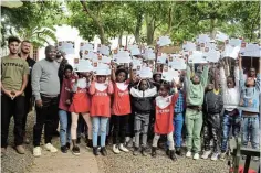
<instances>
[{"instance_id":1,"label":"grey-sleeved arm on left side of the grey-sweater man","mask_svg":"<svg viewBox=\"0 0 261 173\"><path fill-rule=\"evenodd\" d=\"M35 100L41 100L40 95L40 78L42 75L42 67L39 63L33 66L32 69L32 91Z\"/></svg>"}]
</instances>

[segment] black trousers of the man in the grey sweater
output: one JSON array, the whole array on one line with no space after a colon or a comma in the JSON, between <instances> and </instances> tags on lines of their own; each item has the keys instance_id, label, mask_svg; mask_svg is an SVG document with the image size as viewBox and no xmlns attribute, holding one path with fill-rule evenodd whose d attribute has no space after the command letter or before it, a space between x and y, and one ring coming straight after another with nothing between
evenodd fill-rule
<instances>
[{"instance_id":1,"label":"black trousers of the man in the grey sweater","mask_svg":"<svg viewBox=\"0 0 261 173\"><path fill-rule=\"evenodd\" d=\"M58 97L41 96L43 107L36 107L36 123L33 127L33 145L40 147L44 125L45 143L51 143L55 116L58 115Z\"/></svg>"}]
</instances>

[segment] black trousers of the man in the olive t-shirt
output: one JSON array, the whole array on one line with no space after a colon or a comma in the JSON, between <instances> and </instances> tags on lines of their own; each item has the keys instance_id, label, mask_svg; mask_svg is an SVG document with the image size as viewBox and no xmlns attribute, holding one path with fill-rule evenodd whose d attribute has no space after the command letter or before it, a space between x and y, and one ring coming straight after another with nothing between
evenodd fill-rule
<instances>
[{"instance_id":1,"label":"black trousers of the man in the olive t-shirt","mask_svg":"<svg viewBox=\"0 0 261 173\"><path fill-rule=\"evenodd\" d=\"M24 96L18 96L12 100L2 94L1 98L1 148L7 148L8 145L9 125L12 116L14 119L14 144L21 145L23 143Z\"/></svg>"}]
</instances>

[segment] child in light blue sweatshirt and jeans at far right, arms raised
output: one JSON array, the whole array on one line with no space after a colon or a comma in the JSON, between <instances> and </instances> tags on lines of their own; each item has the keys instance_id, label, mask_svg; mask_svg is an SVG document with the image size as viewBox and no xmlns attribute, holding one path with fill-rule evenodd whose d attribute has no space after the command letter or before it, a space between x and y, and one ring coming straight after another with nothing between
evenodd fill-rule
<instances>
[{"instance_id":1,"label":"child in light blue sweatshirt and jeans at far right, arms raised","mask_svg":"<svg viewBox=\"0 0 261 173\"><path fill-rule=\"evenodd\" d=\"M253 149L259 149L259 95L260 95L260 74L261 60L259 60L259 74L257 80L248 76L243 83L242 60L239 58L240 69L240 102L239 109L242 110L242 145L248 147L249 137ZM253 158L255 161L259 158Z\"/></svg>"}]
</instances>

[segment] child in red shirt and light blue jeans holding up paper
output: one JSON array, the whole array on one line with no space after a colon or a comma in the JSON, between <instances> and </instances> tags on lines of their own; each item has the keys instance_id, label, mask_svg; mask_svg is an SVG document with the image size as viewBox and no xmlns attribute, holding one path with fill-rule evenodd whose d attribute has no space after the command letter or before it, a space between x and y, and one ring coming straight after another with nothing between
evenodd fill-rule
<instances>
[{"instance_id":1,"label":"child in red shirt and light blue jeans holding up paper","mask_svg":"<svg viewBox=\"0 0 261 173\"><path fill-rule=\"evenodd\" d=\"M91 116L93 118L93 154L97 153L97 136L101 132L101 153L107 155L105 148L106 128L108 118L111 117L111 95L113 94L112 82L106 82L107 71L97 69L96 77L93 76L93 82L90 87L92 95Z\"/></svg>"}]
</instances>

